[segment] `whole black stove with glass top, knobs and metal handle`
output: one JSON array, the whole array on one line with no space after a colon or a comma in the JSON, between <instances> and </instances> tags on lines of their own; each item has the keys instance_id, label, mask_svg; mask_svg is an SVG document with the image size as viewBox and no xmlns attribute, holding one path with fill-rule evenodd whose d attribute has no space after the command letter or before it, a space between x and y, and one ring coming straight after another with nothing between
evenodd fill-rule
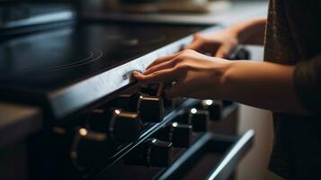
<instances>
[{"instance_id":1,"label":"whole black stove with glass top, knobs and metal handle","mask_svg":"<svg viewBox=\"0 0 321 180\"><path fill-rule=\"evenodd\" d=\"M131 76L180 51L192 33L219 30L92 22L2 40L0 99L44 114L42 129L26 139L29 178L182 178L198 157L223 151L209 170L217 166L211 177L227 178L254 133L208 131L211 123L235 115L237 104L167 100L159 94L163 85L139 85Z\"/></svg>"}]
</instances>

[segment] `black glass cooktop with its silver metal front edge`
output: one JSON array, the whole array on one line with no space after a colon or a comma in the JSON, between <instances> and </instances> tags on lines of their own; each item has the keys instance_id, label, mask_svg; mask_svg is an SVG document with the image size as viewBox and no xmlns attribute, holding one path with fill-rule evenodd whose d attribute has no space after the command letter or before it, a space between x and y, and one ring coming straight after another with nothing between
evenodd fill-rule
<instances>
[{"instance_id":1,"label":"black glass cooktop with its silver metal front edge","mask_svg":"<svg viewBox=\"0 0 321 180\"><path fill-rule=\"evenodd\" d=\"M178 51L183 41L172 42L201 29L90 23L5 40L0 44L0 98L47 103L61 118L128 85L133 70Z\"/></svg>"}]
</instances>

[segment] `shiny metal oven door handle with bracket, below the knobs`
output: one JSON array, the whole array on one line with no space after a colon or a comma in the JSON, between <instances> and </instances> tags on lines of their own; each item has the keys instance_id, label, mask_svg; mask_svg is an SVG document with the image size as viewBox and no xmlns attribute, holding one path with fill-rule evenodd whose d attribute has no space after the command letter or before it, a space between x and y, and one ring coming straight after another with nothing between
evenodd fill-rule
<instances>
[{"instance_id":1,"label":"shiny metal oven door handle with bracket, below the knobs","mask_svg":"<svg viewBox=\"0 0 321 180\"><path fill-rule=\"evenodd\" d=\"M241 158L252 147L254 130L247 130L238 137L205 133L191 148L187 149L174 164L168 167L158 179L182 179L192 167L208 153L224 153L218 164L213 168L206 179L221 180L234 171Z\"/></svg>"}]
</instances>

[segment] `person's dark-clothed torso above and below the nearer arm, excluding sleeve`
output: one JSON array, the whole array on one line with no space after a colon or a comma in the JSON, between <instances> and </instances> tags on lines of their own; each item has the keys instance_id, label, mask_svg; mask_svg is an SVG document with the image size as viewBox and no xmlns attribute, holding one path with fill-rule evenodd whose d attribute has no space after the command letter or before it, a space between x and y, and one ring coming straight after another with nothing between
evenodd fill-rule
<instances>
[{"instance_id":1,"label":"person's dark-clothed torso above and below the nearer arm, excluding sleeve","mask_svg":"<svg viewBox=\"0 0 321 180\"><path fill-rule=\"evenodd\" d=\"M318 1L271 0L264 60L295 65L321 52L320 10ZM273 126L270 169L290 179L313 175L309 168L321 160L321 120L273 113Z\"/></svg>"}]
</instances>

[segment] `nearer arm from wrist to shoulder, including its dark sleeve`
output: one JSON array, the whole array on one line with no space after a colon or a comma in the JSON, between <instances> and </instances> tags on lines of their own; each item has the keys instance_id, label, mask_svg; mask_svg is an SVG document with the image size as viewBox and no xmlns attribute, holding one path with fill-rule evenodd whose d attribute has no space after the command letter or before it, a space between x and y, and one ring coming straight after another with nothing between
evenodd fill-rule
<instances>
[{"instance_id":1,"label":"nearer arm from wrist to shoulder, including its dark sleeve","mask_svg":"<svg viewBox=\"0 0 321 180\"><path fill-rule=\"evenodd\" d=\"M226 97L237 102L273 112L321 114L320 55L293 66L235 61L222 78Z\"/></svg>"}]
</instances>

